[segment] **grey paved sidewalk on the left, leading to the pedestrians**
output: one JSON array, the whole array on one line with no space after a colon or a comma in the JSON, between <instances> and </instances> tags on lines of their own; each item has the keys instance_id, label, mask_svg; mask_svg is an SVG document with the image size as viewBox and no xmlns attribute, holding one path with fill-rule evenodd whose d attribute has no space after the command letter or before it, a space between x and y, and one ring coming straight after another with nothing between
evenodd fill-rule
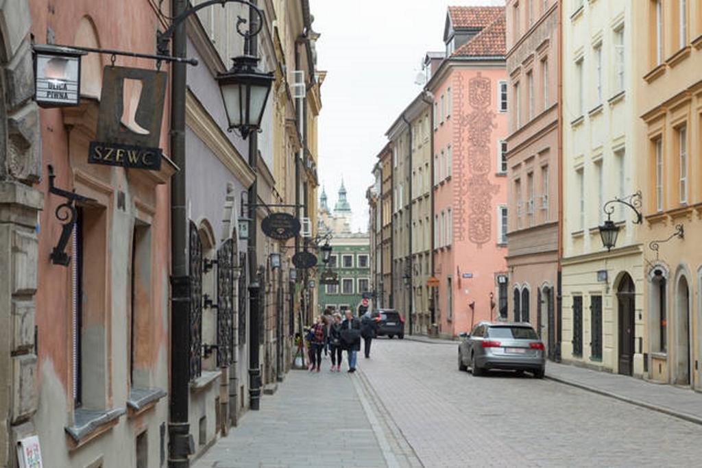
<instances>
[{"instance_id":1,"label":"grey paved sidewalk on the left, leading to the pedestrians","mask_svg":"<svg viewBox=\"0 0 702 468\"><path fill-rule=\"evenodd\" d=\"M407 454L361 377L291 370L258 412L220 439L195 468L408 467Z\"/></svg>"}]
</instances>

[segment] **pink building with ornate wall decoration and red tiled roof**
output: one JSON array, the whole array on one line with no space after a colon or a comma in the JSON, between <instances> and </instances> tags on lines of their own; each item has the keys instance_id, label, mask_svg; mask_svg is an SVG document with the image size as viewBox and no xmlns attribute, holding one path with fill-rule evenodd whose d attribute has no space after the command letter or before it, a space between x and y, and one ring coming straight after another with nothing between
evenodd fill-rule
<instances>
[{"instance_id":1,"label":"pink building with ornate wall decoration and red tiled roof","mask_svg":"<svg viewBox=\"0 0 702 468\"><path fill-rule=\"evenodd\" d=\"M435 317L439 335L452 337L496 319L507 303L504 8L450 7L444 41L446 58L428 91L434 96Z\"/></svg>"}]
</instances>

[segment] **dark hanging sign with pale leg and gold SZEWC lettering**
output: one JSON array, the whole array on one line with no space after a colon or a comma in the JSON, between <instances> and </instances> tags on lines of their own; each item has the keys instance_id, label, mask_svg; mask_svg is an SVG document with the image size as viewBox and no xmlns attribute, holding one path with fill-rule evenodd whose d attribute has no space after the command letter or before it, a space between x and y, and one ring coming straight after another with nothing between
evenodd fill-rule
<instances>
[{"instance_id":1,"label":"dark hanging sign with pale leg and gold SZEWC lettering","mask_svg":"<svg viewBox=\"0 0 702 468\"><path fill-rule=\"evenodd\" d=\"M166 72L107 66L88 163L159 171Z\"/></svg>"}]
</instances>

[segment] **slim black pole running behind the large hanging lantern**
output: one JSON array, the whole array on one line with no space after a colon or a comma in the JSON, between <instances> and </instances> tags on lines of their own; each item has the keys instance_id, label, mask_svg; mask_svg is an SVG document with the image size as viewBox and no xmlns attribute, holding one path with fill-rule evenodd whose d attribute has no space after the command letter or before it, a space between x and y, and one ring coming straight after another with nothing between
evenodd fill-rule
<instances>
[{"instance_id":1,"label":"slim black pole running behind the large hanging lantern","mask_svg":"<svg viewBox=\"0 0 702 468\"><path fill-rule=\"evenodd\" d=\"M251 1L256 6L256 0ZM249 8L249 22L255 31L258 15ZM256 57L258 53L256 36L246 39L246 48L249 55ZM256 236L258 228L258 133L249 134L249 166L256 175L249 188L249 203L253 203L253 212L249 214L251 225L249 227L249 403L252 410L260 409L261 395L261 370L260 370L260 275L258 274L258 260L256 255ZM251 208L249 208L251 210Z\"/></svg>"}]
</instances>

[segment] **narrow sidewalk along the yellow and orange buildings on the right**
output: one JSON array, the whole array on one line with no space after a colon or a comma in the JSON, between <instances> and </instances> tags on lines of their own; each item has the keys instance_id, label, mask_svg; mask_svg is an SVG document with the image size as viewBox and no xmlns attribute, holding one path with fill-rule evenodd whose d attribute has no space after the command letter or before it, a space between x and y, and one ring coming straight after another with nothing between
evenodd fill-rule
<instances>
[{"instance_id":1,"label":"narrow sidewalk along the yellow and orange buildings on the right","mask_svg":"<svg viewBox=\"0 0 702 468\"><path fill-rule=\"evenodd\" d=\"M546 363L546 377L702 424L702 394L691 389L551 361Z\"/></svg>"}]
</instances>

